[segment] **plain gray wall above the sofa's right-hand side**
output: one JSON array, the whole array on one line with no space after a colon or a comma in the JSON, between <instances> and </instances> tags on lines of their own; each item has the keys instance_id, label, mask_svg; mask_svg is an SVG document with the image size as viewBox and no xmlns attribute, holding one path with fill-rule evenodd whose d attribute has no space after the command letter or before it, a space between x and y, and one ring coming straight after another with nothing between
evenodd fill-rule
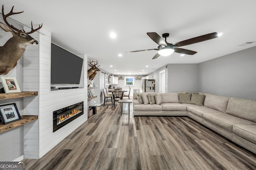
<instances>
[{"instance_id":1,"label":"plain gray wall above the sofa's right-hand side","mask_svg":"<svg viewBox=\"0 0 256 170\"><path fill-rule=\"evenodd\" d=\"M256 47L199 64L201 92L256 100Z\"/></svg>"}]
</instances>

